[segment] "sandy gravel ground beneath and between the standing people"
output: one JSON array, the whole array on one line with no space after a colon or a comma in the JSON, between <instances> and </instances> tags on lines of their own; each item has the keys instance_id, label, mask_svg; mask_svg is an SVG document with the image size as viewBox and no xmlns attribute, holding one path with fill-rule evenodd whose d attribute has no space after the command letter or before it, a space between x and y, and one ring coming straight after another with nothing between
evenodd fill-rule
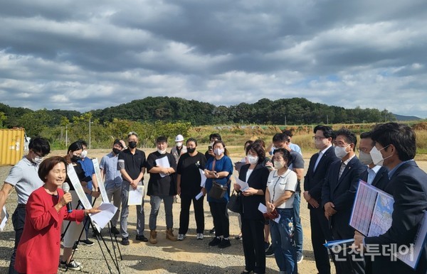
<instances>
[{"instance_id":1,"label":"sandy gravel ground beneath and between the standing people","mask_svg":"<svg viewBox=\"0 0 427 274\"><path fill-rule=\"evenodd\" d=\"M152 150L151 150L152 151ZM151 152L147 150L148 154ZM96 157L98 160L103 155L109 153L109 150L90 150L89 157ZM65 151L53 151L51 155L64 155ZM304 155L306 170L310 155ZM238 157L232 157L233 162L240 160ZM418 161L418 165L427 170L426 161ZM0 180L4 181L11 167L0 167ZM148 182L148 175L144 176L144 181ZM1 183L2 185L2 183ZM303 182L302 182L303 185ZM148 215L149 215L149 197L145 197L145 235L148 236ZM179 199L178 199L179 201ZM12 193L6 202L6 208L9 213L13 213L16 207L16 194ZM140 243L135 239L135 208L130 208L129 227L130 246L120 246L123 261L120 262L121 273L241 273L244 268L244 256L241 241L232 239L232 246L220 250L208 246L211 240L209 229L212 228L213 222L209 212L209 205L205 202L205 239L197 241L195 239L195 221L191 209L189 233L184 241L170 242L164 239L165 221L164 211L161 207L157 225L159 227L159 243L155 246L149 243ZM174 204L174 227L175 233L179 227L179 202ZM299 273L317 273L315 268L315 259L312 253L312 243L310 240L310 219L307 209L307 203L302 199L300 207L300 216L304 233L304 260L298 265ZM231 236L238 234L237 214L230 212L230 230ZM103 231L103 234L106 232ZM0 232L0 273L7 272L11 248L13 247L14 232L11 221L6 225L3 232ZM93 240L94 241L94 240ZM120 241L120 239L119 239ZM81 246L76 257L81 261L85 268L83 273L108 273L105 267L105 261L102 259L100 248L98 246L87 247ZM112 265L112 263L110 263ZM332 264L332 263L331 263ZM113 268L112 273L117 273ZM334 273L332 264L332 273ZM267 273L275 273L278 267L274 257L267 258Z\"/></svg>"}]
</instances>

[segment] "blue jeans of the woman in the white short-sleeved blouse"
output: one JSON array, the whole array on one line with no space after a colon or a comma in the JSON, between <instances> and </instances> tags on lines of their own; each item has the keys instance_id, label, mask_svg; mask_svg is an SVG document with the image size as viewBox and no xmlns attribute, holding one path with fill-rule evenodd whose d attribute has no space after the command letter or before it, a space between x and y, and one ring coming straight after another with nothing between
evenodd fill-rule
<instances>
[{"instance_id":1,"label":"blue jeans of the woman in the white short-sleeved blouse","mask_svg":"<svg viewBox=\"0 0 427 274\"><path fill-rule=\"evenodd\" d=\"M277 209L279 223L270 220L271 243L280 271L297 274L297 253L293 244L295 229L294 209Z\"/></svg>"}]
</instances>

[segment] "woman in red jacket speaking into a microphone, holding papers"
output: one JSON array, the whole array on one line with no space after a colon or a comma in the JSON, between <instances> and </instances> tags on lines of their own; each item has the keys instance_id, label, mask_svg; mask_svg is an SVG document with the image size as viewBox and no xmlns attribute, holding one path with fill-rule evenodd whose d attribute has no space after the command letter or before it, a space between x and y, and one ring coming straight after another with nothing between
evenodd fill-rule
<instances>
[{"instance_id":1,"label":"woman in red jacket speaking into a microphone, holding papers","mask_svg":"<svg viewBox=\"0 0 427 274\"><path fill-rule=\"evenodd\" d=\"M28 198L26 224L16 251L15 269L19 273L57 273L60 255L60 229L63 219L83 221L85 216L100 212L98 209L73 210L65 205L71 194L58 188L66 172L63 157L44 160L38 168L38 177L45 183Z\"/></svg>"}]
</instances>

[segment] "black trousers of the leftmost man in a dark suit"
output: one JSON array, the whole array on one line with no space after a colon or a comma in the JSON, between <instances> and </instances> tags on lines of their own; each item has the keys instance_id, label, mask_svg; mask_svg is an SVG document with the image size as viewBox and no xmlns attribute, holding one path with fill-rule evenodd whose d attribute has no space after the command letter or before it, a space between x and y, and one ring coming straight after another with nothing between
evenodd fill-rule
<instances>
[{"instance_id":1,"label":"black trousers of the leftmost man in a dark suit","mask_svg":"<svg viewBox=\"0 0 427 274\"><path fill-rule=\"evenodd\" d=\"M313 253L315 254L316 268L319 274L330 274L331 265L325 241L332 241L332 232L328 227L325 209L322 207L310 208L310 225Z\"/></svg>"}]
</instances>

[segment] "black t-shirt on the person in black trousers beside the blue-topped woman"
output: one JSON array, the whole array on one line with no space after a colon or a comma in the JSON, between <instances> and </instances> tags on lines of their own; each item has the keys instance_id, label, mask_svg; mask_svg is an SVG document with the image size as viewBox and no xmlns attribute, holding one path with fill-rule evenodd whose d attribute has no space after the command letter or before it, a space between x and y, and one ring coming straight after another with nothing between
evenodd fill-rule
<instances>
[{"instance_id":1,"label":"black t-shirt on the person in black trousers beside the blue-topped woman","mask_svg":"<svg viewBox=\"0 0 427 274\"><path fill-rule=\"evenodd\" d=\"M176 173L181 175L181 195L196 196L200 193L200 172L206 166L206 157L203 153L197 152L196 155L190 156L184 153L179 158Z\"/></svg>"}]
</instances>

